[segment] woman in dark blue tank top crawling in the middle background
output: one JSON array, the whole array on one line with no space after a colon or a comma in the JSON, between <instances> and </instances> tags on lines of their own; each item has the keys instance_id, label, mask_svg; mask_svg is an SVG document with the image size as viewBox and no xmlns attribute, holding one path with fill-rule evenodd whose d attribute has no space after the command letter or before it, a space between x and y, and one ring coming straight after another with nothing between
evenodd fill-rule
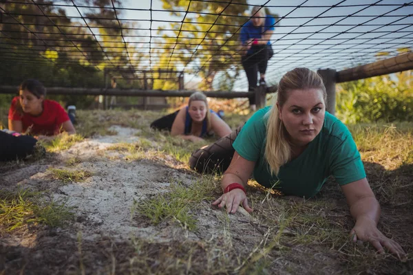
<instances>
[{"instance_id":1,"label":"woman in dark blue tank top crawling in the middle background","mask_svg":"<svg viewBox=\"0 0 413 275\"><path fill-rule=\"evenodd\" d=\"M207 96L200 91L191 94L187 107L155 120L151 128L171 131L171 135L193 142L202 141L212 132L219 137L231 133L228 124L209 109Z\"/></svg>"}]
</instances>

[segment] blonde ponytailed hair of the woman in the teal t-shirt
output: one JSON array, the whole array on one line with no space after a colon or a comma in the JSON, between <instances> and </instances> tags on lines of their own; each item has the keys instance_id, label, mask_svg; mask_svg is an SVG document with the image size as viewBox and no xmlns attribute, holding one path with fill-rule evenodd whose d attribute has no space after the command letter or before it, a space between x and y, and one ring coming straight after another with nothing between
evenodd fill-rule
<instances>
[{"instance_id":1,"label":"blonde ponytailed hair of the woman in the teal t-shirt","mask_svg":"<svg viewBox=\"0 0 413 275\"><path fill-rule=\"evenodd\" d=\"M323 79L317 72L307 68L295 68L284 74L279 80L277 102L281 108L288 99L291 90L320 89L323 91L324 102L327 100L326 87ZM265 158L270 166L271 174L278 175L279 168L291 158L291 146L288 142L288 133L279 119L279 110L274 104L267 122Z\"/></svg>"}]
</instances>

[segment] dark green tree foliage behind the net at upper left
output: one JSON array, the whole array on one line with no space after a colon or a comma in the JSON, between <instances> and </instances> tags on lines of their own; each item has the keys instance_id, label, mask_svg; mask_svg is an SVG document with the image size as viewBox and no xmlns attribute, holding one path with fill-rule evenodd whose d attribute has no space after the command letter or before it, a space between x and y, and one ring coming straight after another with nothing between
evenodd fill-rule
<instances>
[{"instance_id":1,"label":"dark green tree foliage behind the net at upper left","mask_svg":"<svg viewBox=\"0 0 413 275\"><path fill-rule=\"evenodd\" d=\"M72 21L66 16L65 10L54 5L32 5L32 1L25 0L8 3L6 10L12 14L22 15L16 20L3 13L0 31L3 45L0 51L0 83L2 85L18 86L23 80L35 78L40 80L45 87L105 87L104 69L116 64L119 68L130 66L129 54L134 54L134 49L125 45L120 36L120 29L115 19L114 10L107 9L112 6L112 0L83 0L77 1L78 5L94 5L97 8L83 9L83 15L89 17L89 25L99 28L99 41L96 41L87 28L74 28L85 25L81 21ZM22 5L22 3L30 5ZM122 7L122 1L113 0L116 7ZM48 3L48 2L47 2ZM43 16L43 12L53 17L53 22L60 25L60 34L50 20ZM122 10L116 10L119 16ZM79 14L75 14L79 16ZM35 25L34 25L35 24ZM41 36L33 37L28 34L27 28L41 32ZM114 28L116 27L116 28ZM122 23L123 34L129 32L128 23ZM106 36L107 34L112 36ZM74 42L76 41L76 45ZM112 56L108 56L102 47L114 47ZM91 51L91 49L96 49ZM78 50L78 52L76 52ZM74 52L73 52L74 51ZM136 61L138 63L138 61ZM16 91L17 92L17 91ZM51 96L63 104L76 104L78 108L86 108L92 104L94 96ZM10 106L10 96L1 96L0 107Z\"/></svg>"}]
</instances>

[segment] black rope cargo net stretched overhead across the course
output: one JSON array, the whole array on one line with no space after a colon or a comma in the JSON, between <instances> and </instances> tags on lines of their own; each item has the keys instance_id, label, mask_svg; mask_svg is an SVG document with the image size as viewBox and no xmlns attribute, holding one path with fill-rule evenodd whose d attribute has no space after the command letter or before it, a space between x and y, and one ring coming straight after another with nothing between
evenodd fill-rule
<instances>
[{"instance_id":1,"label":"black rope cargo net stretched overhead across the course","mask_svg":"<svg viewBox=\"0 0 413 275\"><path fill-rule=\"evenodd\" d=\"M413 1L1 1L0 66L80 65L246 91L240 32L254 6L275 18L268 83L295 67L341 70L412 48Z\"/></svg>"}]
</instances>

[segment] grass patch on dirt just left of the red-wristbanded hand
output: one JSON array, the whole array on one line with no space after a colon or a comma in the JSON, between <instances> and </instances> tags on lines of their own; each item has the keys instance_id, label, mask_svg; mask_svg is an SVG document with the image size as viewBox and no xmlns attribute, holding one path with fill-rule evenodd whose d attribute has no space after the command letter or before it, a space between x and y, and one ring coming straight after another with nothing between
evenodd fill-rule
<instances>
[{"instance_id":1,"label":"grass patch on dirt just left of the red-wristbanded hand","mask_svg":"<svg viewBox=\"0 0 413 275\"><path fill-rule=\"evenodd\" d=\"M139 201L139 208L136 206L138 202L134 201L134 208L154 224L165 219L176 219L183 228L195 230L196 219L193 209L199 207L201 201L213 199L213 190L218 186L217 182L211 180L212 177L208 179L198 181L189 187L179 182L172 183L171 192Z\"/></svg>"}]
</instances>

